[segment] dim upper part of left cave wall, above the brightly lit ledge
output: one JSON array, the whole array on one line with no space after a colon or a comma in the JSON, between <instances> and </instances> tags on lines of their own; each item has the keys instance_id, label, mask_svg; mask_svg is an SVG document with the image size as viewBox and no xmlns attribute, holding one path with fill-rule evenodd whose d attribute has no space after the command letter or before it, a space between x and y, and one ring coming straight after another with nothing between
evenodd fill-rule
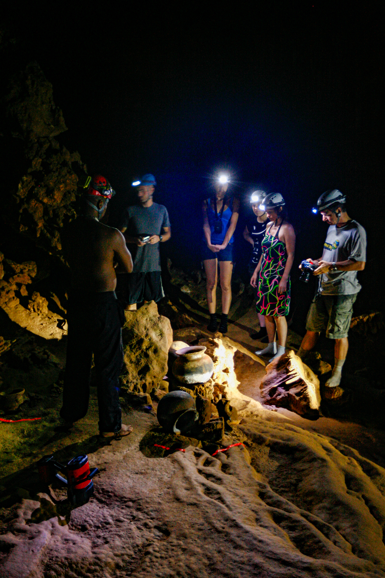
<instances>
[{"instance_id":1,"label":"dim upper part of left cave wall, above the brightly lit ledge","mask_svg":"<svg viewBox=\"0 0 385 578\"><path fill-rule=\"evenodd\" d=\"M8 123L3 136L10 151L15 139L21 142L14 164L24 166L5 195L3 222L48 253L60 254L60 231L76 216L77 183L85 176L85 165L79 153L69 153L53 138L66 126L52 85L36 62L10 79L3 102Z\"/></svg>"}]
</instances>

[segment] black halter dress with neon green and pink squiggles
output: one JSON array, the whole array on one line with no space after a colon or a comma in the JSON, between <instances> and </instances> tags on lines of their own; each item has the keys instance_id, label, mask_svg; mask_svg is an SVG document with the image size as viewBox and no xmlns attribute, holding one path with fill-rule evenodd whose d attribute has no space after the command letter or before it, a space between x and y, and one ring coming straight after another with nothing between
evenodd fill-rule
<instances>
[{"instance_id":1,"label":"black halter dress with neon green and pink squiggles","mask_svg":"<svg viewBox=\"0 0 385 578\"><path fill-rule=\"evenodd\" d=\"M267 233L261 243L262 262L259 272L257 313L261 315L285 316L290 306L290 276L287 279L285 293L278 293L278 284L282 279L287 261L286 245L278 239L276 234Z\"/></svg>"}]
</instances>

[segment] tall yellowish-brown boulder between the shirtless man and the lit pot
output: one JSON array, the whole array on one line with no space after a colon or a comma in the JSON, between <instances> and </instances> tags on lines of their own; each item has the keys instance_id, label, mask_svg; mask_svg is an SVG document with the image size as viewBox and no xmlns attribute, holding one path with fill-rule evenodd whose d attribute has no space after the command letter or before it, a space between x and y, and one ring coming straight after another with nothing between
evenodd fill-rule
<instances>
[{"instance_id":1,"label":"tall yellowish-brown boulder between the shirtless man and the lit pot","mask_svg":"<svg viewBox=\"0 0 385 578\"><path fill-rule=\"evenodd\" d=\"M167 373L167 359L173 342L170 321L159 315L154 301L137 311L126 311L125 317L122 387L128 391L149 393L159 387Z\"/></svg>"}]
</instances>

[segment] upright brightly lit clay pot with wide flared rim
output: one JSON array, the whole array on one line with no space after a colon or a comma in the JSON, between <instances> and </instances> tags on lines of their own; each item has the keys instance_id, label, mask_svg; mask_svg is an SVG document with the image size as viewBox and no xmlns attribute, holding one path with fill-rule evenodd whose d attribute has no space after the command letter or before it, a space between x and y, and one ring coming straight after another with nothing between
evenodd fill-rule
<instances>
[{"instance_id":1,"label":"upright brightly lit clay pot with wide flared rim","mask_svg":"<svg viewBox=\"0 0 385 578\"><path fill-rule=\"evenodd\" d=\"M181 383L205 383L214 372L214 363L206 355L203 345L194 345L178 349L179 356L173 365L173 375Z\"/></svg>"}]
</instances>

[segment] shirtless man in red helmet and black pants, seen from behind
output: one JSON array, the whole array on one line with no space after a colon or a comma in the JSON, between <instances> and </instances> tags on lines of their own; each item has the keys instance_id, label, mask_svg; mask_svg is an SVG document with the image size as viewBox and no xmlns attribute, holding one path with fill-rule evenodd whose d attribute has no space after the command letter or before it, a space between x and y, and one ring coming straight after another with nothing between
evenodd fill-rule
<instances>
[{"instance_id":1,"label":"shirtless man in red helmet and black pants, seen from behind","mask_svg":"<svg viewBox=\"0 0 385 578\"><path fill-rule=\"evenodd\" d=\"M125 322L115 296L114 260L122 272L132 271L132 258L118 229L99 223L115 194L98 175L85 195L81 217L63 235L72 287L68 310L68 345L61 417L80 420L88 410L92 353L98 386L99 432L120 439L132 427L122 425L119 373L123 365L121 327Z\"/></svg>"}]
</instances>

